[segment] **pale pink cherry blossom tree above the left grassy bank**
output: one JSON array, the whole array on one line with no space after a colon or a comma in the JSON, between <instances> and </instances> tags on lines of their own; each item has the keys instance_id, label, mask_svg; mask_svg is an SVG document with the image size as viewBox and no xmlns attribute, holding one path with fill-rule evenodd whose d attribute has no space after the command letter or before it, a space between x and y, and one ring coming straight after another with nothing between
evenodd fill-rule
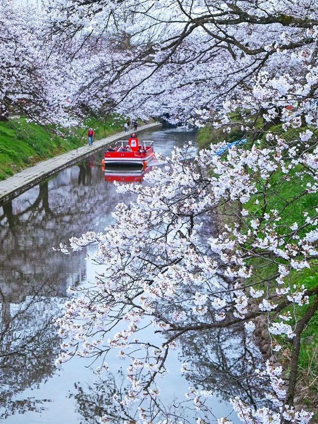
<instances>
[{"instance_id":1,"label":"pale pink cherry blossom tree above the left grassy bank","mask_svg":"<svg viewBox=\"0 0 318 424\"><path fill-rule=\"evenodd\" d=\"M23 115L42 125L70 126L81 118L73 92L77 68L48 35L46 9L0 1L0 120Z\"/></svg>"}]
</instances>

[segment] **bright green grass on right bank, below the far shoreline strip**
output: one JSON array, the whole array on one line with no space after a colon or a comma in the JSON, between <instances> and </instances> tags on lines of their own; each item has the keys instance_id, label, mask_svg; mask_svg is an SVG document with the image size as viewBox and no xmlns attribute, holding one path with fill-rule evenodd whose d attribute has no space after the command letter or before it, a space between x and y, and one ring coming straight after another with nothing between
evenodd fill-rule
<instances>
[{"instance_id":1,"label":"bright green grass on right bank, below the far shoreline strip","mask_svg":"<svg viewBox=\"0 0 318 424\"><path fill-rule=\"evenodd\" d=\"M277 130L277 128L276 128ZM288 135L287 135L288 137ZM281 220L277 225L278 233L285 233L286 228L290 229L291 226L297 222L301 228L305 225L307 214L311 215L318 205L318 193L308 193L302 195L306 190L307 180L302 176L301 166L296 166L288 174L288 178L281 171L275 172L269 179L271 190L266 199L267 210L278 210L283 213L280 214ZM250 200L244 205L248 210L249 215L253 218L261 217L262 209L264 207L264 199L262 195L257 196L259 203L255 204L255 198ZM264 223L264 225L266 225ZM313 227L314 228L314 227ZM306 230L300 231L300 236L304 236L306 232L313 229L307 227ZM297 249L297 241L289 240L289 243L295 245ZM273 281L278 272L279 262L283 260L272 261L261 260L254 258L252 265L257 269L257 275L253 277L253 281L257 278L260 281ZM284 287L296 287L301 291L302 285L308 290L318 287L318 259L310 261L310 269L304 268L296 271L291 269L289 278L286 279ZM247 280L247 284L250 281ZM266 284L261 283L260 289L266 289ZM275 295L274 292L271 293ZM313 297L310 298L310 303L313 302ZM306 308L306 307L305 307ZM295 318L299 321L304 314L304 307L297 304L291 304L285 309L285 313L291 313L291 321L289 324L295 325ZM280 320L278 320L280 321ZM306 326L306 330L302 333L301 348L299 355L299 386L298 393L301 391L304 402L312 406L312 399L318 394L318 312L315 313L313 319ZM287 336L276 336L278 342L283 346L283 350L287 357L292 346L292 341ZM283 364L285 359L283 358ZM288 363L288 361L285 363ZM316 413L316 418L318 418Z\"/></svg>"}]
</instances>

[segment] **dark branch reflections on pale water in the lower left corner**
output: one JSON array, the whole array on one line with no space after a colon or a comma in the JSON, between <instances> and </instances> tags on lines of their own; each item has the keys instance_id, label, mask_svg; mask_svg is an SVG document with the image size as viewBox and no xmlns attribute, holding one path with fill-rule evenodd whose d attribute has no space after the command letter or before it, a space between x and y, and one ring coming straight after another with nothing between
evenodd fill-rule
<instances>
[{"instance_id":1,"label":"dark branch reflections on pale water in the lower left corner","mask_svg":"<svg viewBox=\"0 0 318 424\"><path fill-rule=\"evenodd\" d=\"M58 300L33 296L20 305L10 305L2 292L0 297L0 418L3 419L15 413L41 410L43 400L30 397L15 400L14 396L52 375L59 339L52 325L52 316L58 313Z\"/></svg>"}]
</instances>

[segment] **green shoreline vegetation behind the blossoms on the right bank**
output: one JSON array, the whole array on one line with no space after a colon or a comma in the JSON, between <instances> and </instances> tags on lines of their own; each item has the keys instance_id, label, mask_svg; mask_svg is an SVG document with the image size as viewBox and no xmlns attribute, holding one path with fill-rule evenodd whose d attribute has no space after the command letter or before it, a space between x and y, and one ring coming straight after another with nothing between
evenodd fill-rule
<instances>
[{"instance_id":1,"label":"green shoreline vegetation behind the blossoms on the right bank","mask_svg":"<svg viewBox=\"0 0 318 424\"><path fill-rule=\"evenodd\" d=\"M299 134L306 131L308 127L300 127L294 129L283 130L282 124L273 125L269 131L283 139L286 143L292 142L299 138ZM318 137L318 130L316 127L311 128L314 132L315 138ZM257 135L256 135L257 136ZM234 123L231 132L223 132L223 128L215 129L212 127L203 127L199 130L197 135L198 149L209 149L211 144L216 144L221 141L231 143L240 138L247 138L247 144L240 148L249 149L254 142L259 142L263 147L271 147L274 142L266 141L266 131L259 134L256 139L255 134L243 133L239 127ZM226 156L226 155L224 155ZM212 172L212 170L211 170ZM271 192L267 192L267 198L263 197L263 181L260 180L257 198L250 200L244 204L244 215L251 218L262 220L264 210L277 210L283 211L281 214L280 225L282 227L292 227L295 222L299 226L305 223L308 212L318 205L318 194L306 196L304 189L306 189L306 180L302 177L301 166L295 166L290 170L288 177L282 173L281 170L273 172L267 182L271 186ZM218 233L222 234L225 227L230 227L234 230L235 226L241 226L242 222L240 216L242 214L242 205L237 201L232 201L231 205L225 204L219 210L219 216L223 216L223 220L218 220ZM264 223L266 225L266 223ZM247 233L246 228L246 233ZM275 279L278 270L278 263L266 261L263 258L251 259L250 265L258 269L259 290L266 290L266 282ZM248 286L255 281L255 275L245 280ZM318 259L311 261L310 268L304 268L301 271L292 270L290 273L289 284L297 286L301 289L304 285L308 290L315 290L318 287ZM272 293L272 295L275 295ZM292 324L295 323L295 318L301 318L301 307L298 305L291 305L289 308L292 319ZM265 319L267 323L267 318ZM256 324L257 323L257 324ZM260 319L255 321L256 329L254 331L256 342L260 351L265 359L271 355L271 335L267 327L264 329L262 326L263 321ZM282 349L282 354L278 355L272 351L275 362L280 360L283 367L283 376L285 384L287 385L288 378L291 372L291 351L292 342L286 335L277 337ZM279 359L278 359L279 358ZM312 320L308 323L305 330L301 335L301 348L298 362L299 380L296 387L295 408L300 411L303 407L311 412L314 412L314 422L318 420L318 313L316 312Z\"/></svg>"}]
</instances>

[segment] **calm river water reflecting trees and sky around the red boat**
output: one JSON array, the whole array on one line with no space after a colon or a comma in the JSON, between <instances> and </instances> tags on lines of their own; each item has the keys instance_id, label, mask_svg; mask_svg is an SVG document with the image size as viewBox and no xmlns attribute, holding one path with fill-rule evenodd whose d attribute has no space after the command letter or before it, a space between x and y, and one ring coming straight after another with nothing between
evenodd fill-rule
<instances>
[{"instance_id":1,"label":"calm river water reflecting trees and sky around the red boat","mask_svg":"<svg viewBox=\"0 0 318 424\"><path fill-rule=\"evenodd\" d=\"M166 129L143 133L142 138L155 140L155 151L165 157L174 145L182 146L194 136L193 131ZM96 267L85 259L87 251L64 255L52 247L85 231L103 231L116 203L127 201L112 182L127 175L114 176L112 171L105 175L102 157L103 151L97 152L0 208L0 420L6 423L96 423L100 402L96 393L106 384L97 381L82 359L55 369L60 340L52 325L52 318L61 313L67 287L92 281ZM234 364L240 375L238 360L246 358L246 346L238 356L233 343L241 346L237 332L215 334L213 343L211 334L185 339L182 351L170 359L163 400L183 398L181 383L185 388L199 387L204 380L205 387L222 387L230 376L236 378ZM180 375L185 359L197 366L188 382ZM112 360L111 366L120 365L116 356ZM243 390L237 385L236 393ZM229 388L225 392L216 392L212 399L217 417L232 411L226 399L234 393ZM239 422L233 414L231 418Z\"/></svg>"}]
</instances>

